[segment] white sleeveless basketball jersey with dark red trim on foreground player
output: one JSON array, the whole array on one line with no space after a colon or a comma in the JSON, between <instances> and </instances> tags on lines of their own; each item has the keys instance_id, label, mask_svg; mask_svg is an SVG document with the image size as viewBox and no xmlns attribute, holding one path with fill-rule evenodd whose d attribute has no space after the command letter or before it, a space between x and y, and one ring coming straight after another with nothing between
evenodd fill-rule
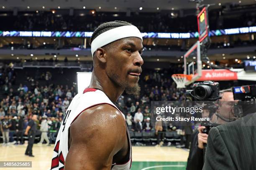
<instances>
[{"instance_id":1,"label":"white sleeveless basketball jersey with dark red trim on foreground player","mask_svg":"<svg viewBox=\"0 0 256 170\"><path fill-rule=\"evenodd\" d=\"M111 102L111 100L108 98L108 96L105 95L105 93L102 92L101 90L97 90L94 88L87 88L84 90L83 94L79 93L73 98L72 102L70 103L67 109L64 119L61 122L61 127L59 128L59 133L57 135L56 142L54 145L54 154L51 161L51 170L64 170L65 160L69 152L68 150L69 127L72 124L72 122L74 122L74 120L76 120L77 117L82 112L84 112L84 110L90 107L94 107L96 105L102 105L102 104L112 105L119 112L121 112L118 109L118 107L116 107L115 104L113 104L113 102ZM123 118L125 119L125 115L123 115ZM128 140L129 140L129 148L130 148L129 158L130 159L127 163L124 163L122 165L118 165L114 163L112 165L111 170L130 170L131 168L131 162L132 162L131 139L130 139L130 135L127 127L126 127L126 131L127 131Z\"/></svg>"}]
</instances>

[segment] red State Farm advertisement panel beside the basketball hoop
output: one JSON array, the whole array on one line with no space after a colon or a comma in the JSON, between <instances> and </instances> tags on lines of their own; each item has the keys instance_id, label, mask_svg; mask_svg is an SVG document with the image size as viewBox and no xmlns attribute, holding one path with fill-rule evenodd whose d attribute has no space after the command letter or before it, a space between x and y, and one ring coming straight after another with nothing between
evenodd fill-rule
<instances>
[{"instance_id":1,"label":"red State Farm advertisement panel beside the basketball hoop","mask_svg":"<svg viewBox=\"0 0 256 170\"><path fill-rule=\"evenodd\" d=\"M237 73L225 70L225 69L212 69L212 70L202 70L202 77L197 81L220 81L220 80L238 80Z\"/></svg>"}]
</instances>

